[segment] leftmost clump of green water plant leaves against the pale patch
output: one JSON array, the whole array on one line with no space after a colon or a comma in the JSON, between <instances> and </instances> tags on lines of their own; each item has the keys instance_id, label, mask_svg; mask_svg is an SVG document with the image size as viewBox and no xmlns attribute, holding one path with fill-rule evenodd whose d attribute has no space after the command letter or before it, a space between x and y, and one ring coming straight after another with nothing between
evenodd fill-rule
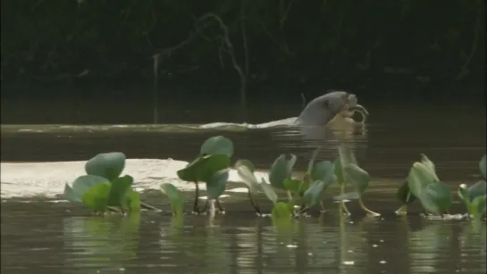
<instances>
[{"instance_id":1,"label":"leftmost clump of green water plant leaves against the pale patch","mask_svg":"<svg viewBox=\"0 0 487 274\"><path fill-rule=\"evenodd\" d=\"M139 212L140 207L155 209L141 203L139 193L132 189L130 175L119 177L125 168L125 154L97 154L85 164L88 175L66 183L64 197L74 203L83 203L95 212Z\"/></svg>"}]
</instances>

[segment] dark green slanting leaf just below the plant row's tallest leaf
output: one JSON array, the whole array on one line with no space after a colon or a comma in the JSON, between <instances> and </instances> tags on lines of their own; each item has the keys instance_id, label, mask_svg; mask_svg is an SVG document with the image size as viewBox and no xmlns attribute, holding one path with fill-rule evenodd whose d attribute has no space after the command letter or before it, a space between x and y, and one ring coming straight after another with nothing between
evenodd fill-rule
<instances>
[{"instance_id":1,"label":"dark green slanting leaf just below the plant row's tallest leaf","mask_svg":"<svg viewBox=\"0 0 487 274\"><path fill-rule=\"evenodd\" d=\"M199 155L184 169L178 170L178 177L188 182L207 182L214 173L230 166L230 158L223 154Z\"/></svg>"}]
</instances>

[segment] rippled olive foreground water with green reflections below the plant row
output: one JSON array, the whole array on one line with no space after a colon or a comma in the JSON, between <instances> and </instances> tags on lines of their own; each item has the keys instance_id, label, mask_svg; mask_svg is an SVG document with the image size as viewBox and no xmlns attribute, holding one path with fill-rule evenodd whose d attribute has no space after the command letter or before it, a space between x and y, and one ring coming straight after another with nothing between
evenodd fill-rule
<instances>
[{"instance_id":1,"label":"rippled olive foreground water with green reflections below the plant row","mask_svg":"<svg viewBox=\"0 0 487 274\"><path fill-rule=\"evenodd\" d=\"M34 209L39 212L33 217ZM69 211L69 212L66 212ZM42 213L40 213L42 212ZM60 212L64 212L60 214ZM87 216L2 205L2 273L484 273L485 224L324 215L277 233L250 212ZM479 231L480 229L480 231Z\"/></svg>"}]
</instances>

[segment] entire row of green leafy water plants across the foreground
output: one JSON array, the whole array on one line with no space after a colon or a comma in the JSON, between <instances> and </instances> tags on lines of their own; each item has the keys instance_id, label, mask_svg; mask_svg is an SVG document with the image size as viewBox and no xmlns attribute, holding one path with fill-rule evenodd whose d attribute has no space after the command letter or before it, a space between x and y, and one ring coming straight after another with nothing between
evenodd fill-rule
<instances>
[{"instance_id":1,"label":"entire row of green leafy water plants across the foreground","mask_svg":"<svg viewBox=\"0 0 487 274\"><path fill-rule=\"evenodd\" d=\"M270 166L266 179L257 179L255 166L249 160L236 161L233 169L248 188L248 199L256 214L270 215L276 226L290 226L293 218L306 214L318 204L322 212L325 212L325 190L337 183L340 195L335 195L332 199L340 203L341 215L350 214L346 202L357 200L367 214L379 216L379 213L368 209L362 201L371 177L359 166L350 147L340 145L339 156L333 162L316 161L319 152L320 148L315 150L302 178L298 178L293 172L297 162L295 154L279 155ZM223 136L210 137L201 145L195 159L177 171L181 180L195 184L193 212L205 212L208 204L211 205L212 213L214 205L223 212L218 199L223 195L230 179L233 154L234 147L230 139ZM480 220L487 208L485 165L486 156L483 155L479 163L482 181L469 187L466 184L458 187L458 197L466 205L467 215L473 220ZM66 183L65 198L71 202L83 203L95 212L139 212L141 208L155 209L140 201L139 193L132 188L133 178L130 175L121 176L124 167L125 154L97 154L86 163L86 175ZM203 209L198 207L199 183L206 184L207 199ZM348 186L352 190L346 192ZM181 216L184 215L183 195L171 183L163 183L160 188L171 203L174 218L181 222ZM281 193L286 194L287 199L282 199ZM261 194L273 204L270 214L264 214L256 201L256 195ZM436 174L434 163L425 154L421 154L421 161L413 163L396 196L403 204L396 212L398 214L407 213L407 205L418 200L426 214L443 217L452 204L450 187L441 181Z\"/></svg>"}]
</instances>

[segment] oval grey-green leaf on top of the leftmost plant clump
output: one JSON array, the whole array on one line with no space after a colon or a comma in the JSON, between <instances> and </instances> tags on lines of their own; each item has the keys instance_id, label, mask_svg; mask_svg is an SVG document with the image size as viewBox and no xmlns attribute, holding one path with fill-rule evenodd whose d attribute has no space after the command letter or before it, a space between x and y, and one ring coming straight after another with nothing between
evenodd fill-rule
<instances>
[{"instance_id":1,"label":"oval grey-green leaf on top of the leftmost plant clump","mask_svg":"<svg viewBox=\"0 0 487 274\"><path fill-rule=\"evenodd\" d=\"M124 168L125 154L122 153L97 154L85 164L88 175L100 176L110 181L118 178Z\"/></svg>"}]
</instances>

